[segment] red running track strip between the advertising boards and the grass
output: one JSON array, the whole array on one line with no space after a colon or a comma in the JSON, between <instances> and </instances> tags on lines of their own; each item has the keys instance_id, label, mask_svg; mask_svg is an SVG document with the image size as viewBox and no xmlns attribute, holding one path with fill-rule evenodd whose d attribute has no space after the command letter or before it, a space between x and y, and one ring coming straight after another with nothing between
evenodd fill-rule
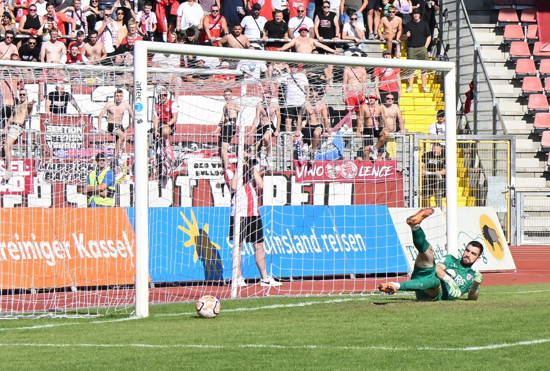
<instances>
[{"instance_id":1,"label":"red running track strip between the advertising boards and the grass","mask_svg":"<svg viewBox=\"0 0 550 371\"><path fill-rule=\"evenodd\" d=\"M483 285L518 285L550 283L550 246L510 246L516 272L486 273ZM398 281L405 281L405 276ZM260 287L250 284L240 290L241 297L270 295L322 295L349 294L374 291L384 278L295 281L283 283L280 287ZM389 280L395 280L391 278ZM189 287L168 287L151 289L152 302L180 302L196 300L211 294L218 298L229 298L231 287L223 285L196 285ZM87 292L58 292L36 295L4 295L0 297L1 312L63 311L73 308L101 307L116 303L130 306L134 302L133 290L109 290Z\"/></svg>"}]
</instances>

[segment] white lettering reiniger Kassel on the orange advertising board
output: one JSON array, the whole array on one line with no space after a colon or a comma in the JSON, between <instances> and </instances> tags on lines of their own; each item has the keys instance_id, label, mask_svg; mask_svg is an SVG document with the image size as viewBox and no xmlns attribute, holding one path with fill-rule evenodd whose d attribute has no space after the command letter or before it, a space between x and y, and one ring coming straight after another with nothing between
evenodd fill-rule
<instances>
[{"instance_id":1,"label":"white lettering reiniger Kassel on the orange advertising board","mask_svg":"<svg viewBox=\"0 0 550 371\"><path fill-rule=\"evenodd\" d=\"M84 244L84 234L71 234L72 241L36 240L31 233L31 241L23 241L17 233L13 240L0 241L0 260L23 261L27 259L43 260L53 267L64 259L76 258L131 258L134 256L128 235L122 232L122 240L90 240ZM74 253L72 253L72 251Z\"/></svg>"}]
</instances>

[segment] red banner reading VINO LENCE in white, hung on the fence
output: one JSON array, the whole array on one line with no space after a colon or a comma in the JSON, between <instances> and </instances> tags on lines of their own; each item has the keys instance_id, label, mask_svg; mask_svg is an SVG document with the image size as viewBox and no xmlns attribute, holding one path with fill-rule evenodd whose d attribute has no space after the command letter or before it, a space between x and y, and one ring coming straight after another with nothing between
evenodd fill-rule
<instances>
[{"instance_id":1,"label":"red banner reading VINO LENCE in white, hung on the fence","mask_svg":"<svg viewBox=\"0 0 550 371\"><path fill-rule=\"evenodd\" d=\"M397 167L395 160L363 161L337 160L309 163L294 161L294 175L297 182L385 182L395 180Z\"/></svg>"}]
</instances>

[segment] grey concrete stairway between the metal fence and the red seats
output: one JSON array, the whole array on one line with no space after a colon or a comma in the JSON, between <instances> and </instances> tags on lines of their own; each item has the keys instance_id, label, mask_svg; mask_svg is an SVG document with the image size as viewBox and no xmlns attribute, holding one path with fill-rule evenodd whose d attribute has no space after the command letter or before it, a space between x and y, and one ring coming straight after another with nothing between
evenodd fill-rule
<instances>
[{"instance_id":1,"label":"grey concrete stairway between the metal fence and the red seats","mask_svg":"<svg viewBox=\"0 0 550 371\"><path fill-rule=\"evenodd\" d=\"M541 136L531 133L535 118L526 114L521 80L513 78L515 63L508 62L509 45L502 44L504 28L496 27L498 10L491 9L490 0L470 1L466 7L508 134L516 136L516 189L546 189L550 187L547 157L539 151Z\"/></svg>"}]
</instances>

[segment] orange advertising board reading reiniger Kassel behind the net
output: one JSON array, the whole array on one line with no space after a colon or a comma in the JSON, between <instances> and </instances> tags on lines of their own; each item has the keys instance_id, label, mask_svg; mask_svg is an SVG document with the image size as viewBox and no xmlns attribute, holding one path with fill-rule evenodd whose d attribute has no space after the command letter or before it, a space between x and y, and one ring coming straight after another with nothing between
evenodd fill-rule
<instances>
[{"instance_id":1,"label":"orange advertising board reading reiniger Kassel behind the net","mask_svg":"<svg viewBox=\"0 0 550 371\"><path fill-rule=\"evenodd\" d=\"M134 283L125 208L1 208L0 288Z\"/></svg>"}]
</instances>

